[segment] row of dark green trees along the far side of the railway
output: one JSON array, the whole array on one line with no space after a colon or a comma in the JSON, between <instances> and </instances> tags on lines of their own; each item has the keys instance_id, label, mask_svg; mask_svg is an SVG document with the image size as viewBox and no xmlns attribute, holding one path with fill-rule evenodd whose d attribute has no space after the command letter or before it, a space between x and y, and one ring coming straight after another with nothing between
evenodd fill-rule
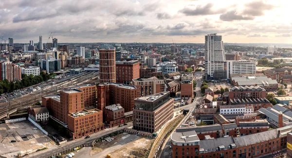
<instances>
[{"instance_id":1,"label":"row of dark green trees along the far side of the railway","mask_svg":"<svg viewBox=\"0 0 292 158\"><path fill-rule=\"evenodd\" d=\"M56 76L55 73L45 74L43 71L41 71L40 75L35 77L32 74L29 76L27 76L26 74L22 74L21 81L18 80L16 82L9 82L7 79L0 80L0 94L10 93L14 90L32 86L40 82L52 79L54 76Z\"/></svg>"}]
</instances>

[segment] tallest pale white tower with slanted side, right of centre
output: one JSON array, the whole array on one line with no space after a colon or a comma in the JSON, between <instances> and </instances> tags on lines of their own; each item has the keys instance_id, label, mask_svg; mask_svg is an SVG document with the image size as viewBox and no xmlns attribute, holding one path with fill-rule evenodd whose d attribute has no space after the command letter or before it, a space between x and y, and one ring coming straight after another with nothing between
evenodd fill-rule
<instances>
[{"instance_id":1,"label":"tallest pale white tower with slanted side, right of centre","mask_svg":"<svg viewBox=\"0 0 292 158\"><path fill-rule=\"evenodd\" d=\"M217 35L217 33L206 35L205 78L226 79L226 68L224 68L225 61L226 59L222 36Z\"/></svg>"}]
</instances>

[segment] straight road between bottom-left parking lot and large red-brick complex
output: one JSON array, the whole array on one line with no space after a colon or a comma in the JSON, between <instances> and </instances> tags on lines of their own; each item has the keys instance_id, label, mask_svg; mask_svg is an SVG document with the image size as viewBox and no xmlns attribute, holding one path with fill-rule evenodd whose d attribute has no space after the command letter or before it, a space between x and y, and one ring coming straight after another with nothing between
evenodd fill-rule
<instances>
[{"instance_id":1,"label":"straight road between bottom-left parking lot and large red-brick complex","mask_svg":"<svg viewBox=\"0 0 292 158\"><path fill-rule=\"evenodd\" d=\"M91 134L89 139L84 139L85 137L80 138L80 139L76 139L76 140L67 142L62 147L55 146L55 147L50 148L50 149L39 151L39 152L37 152L37 154L34 153L34 156L33 156L33 154L30 154L30 155L26 156L25 158L47 158L51 155L57 154L57 153L64 151L66 149L73 148L73 147L80 145L80 144L83 144L85 142L93 142L96 138L105 136L107 134L110 134L112 132L118 131L118 130L123 129L123 128L133 126L133 123L127 123L127 124L128 125L122 126L122 127L115 126L113 128L107 128L107 129L102 130L100 132Z\"/></svg>"}]
</instances>

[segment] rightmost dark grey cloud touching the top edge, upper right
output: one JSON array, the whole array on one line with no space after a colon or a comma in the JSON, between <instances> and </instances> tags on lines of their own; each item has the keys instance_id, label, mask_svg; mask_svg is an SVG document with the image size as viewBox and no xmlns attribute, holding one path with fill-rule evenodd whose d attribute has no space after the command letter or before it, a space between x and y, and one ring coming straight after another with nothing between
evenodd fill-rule
<instances>
[{"instance_id":1,"label":"rightmost dark grey cloud touching the top edge, upper right","mask_svg":"<svg viewBox=\"0 0 292 158\"><path fill-rule=\"evenodd\" d=\"M264 11L272 10L275 7L274 5L267 4L262 0L247 3L245 6L246 8L244 9L243 14L249 16L263 16Z\"/></svg>"}]
</instances>

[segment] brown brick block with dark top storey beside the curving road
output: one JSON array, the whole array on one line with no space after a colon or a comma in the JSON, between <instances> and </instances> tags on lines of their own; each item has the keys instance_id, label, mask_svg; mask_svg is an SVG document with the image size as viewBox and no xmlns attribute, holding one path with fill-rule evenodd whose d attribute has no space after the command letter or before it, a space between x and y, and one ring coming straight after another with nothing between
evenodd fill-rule
<instances>
[{"instance_id":1,"label":"brown brick block with dark top storey beside the curving road","mask_svg":"<svg viewBox=\"0 0 292 158\"><path fill-rule=\"evenodd\" d=\"M173 102L170 92L136 98L133 109L133 129L157 132L172 119Z\"/></svg>"}]
</instances>

